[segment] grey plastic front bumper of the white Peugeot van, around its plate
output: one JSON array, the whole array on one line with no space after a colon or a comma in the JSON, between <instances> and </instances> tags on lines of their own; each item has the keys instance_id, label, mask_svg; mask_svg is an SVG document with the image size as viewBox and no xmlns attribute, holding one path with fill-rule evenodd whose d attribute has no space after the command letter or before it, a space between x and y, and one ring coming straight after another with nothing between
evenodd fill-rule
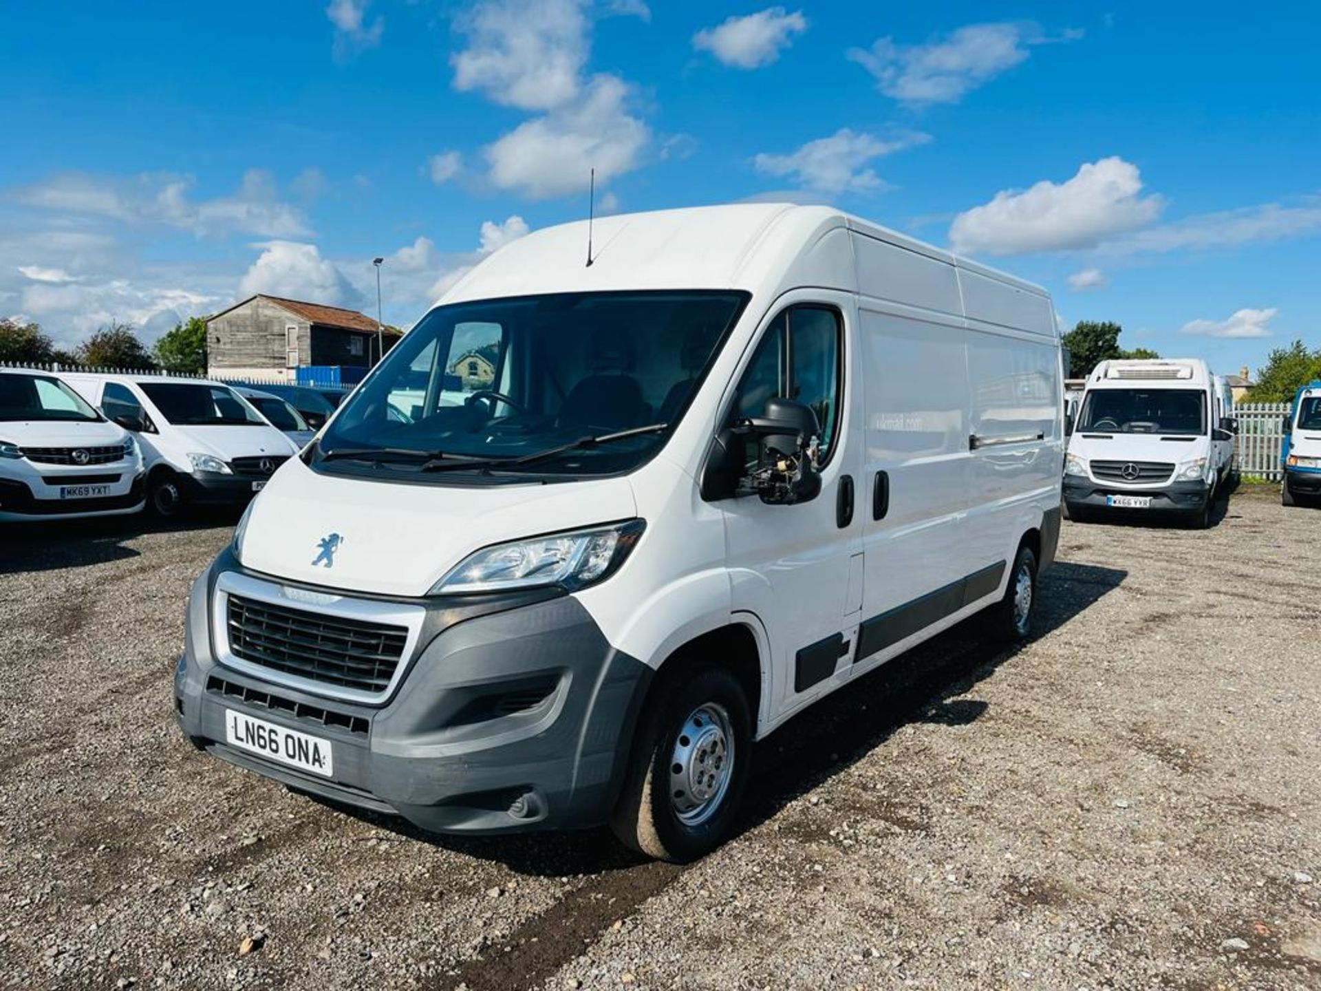
<instances>
[{"instance_id":1,"label":"grey plastic front bumper of the white Peugeot van, around its plate","mask_svg":"<svg viewBox=\"0 0 1321 991\"><path fill-rule=\"evenodd\" d=\"M174 674L178 723L232 764L337 802L396 813L437 832L605 822L622 781L651 669L613 650L571 596L425 603L419 647L394 694L369 706L309 694L219 663L209 601L221 555L193 588ZM415 603L416 604L416 603ZM502 699L540 702L507 711ZM226 743L226 710L329 740L334 777Z\"/></svg>"}]
</instances>

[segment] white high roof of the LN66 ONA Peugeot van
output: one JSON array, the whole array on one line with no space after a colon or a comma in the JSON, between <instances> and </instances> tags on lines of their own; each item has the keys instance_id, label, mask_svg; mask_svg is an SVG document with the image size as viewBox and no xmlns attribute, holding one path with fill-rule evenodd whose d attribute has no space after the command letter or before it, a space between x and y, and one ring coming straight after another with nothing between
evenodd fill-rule
<instances>
[{"instance_id":1,"label":"white high roof of the LN66 ONA Peugeot van","mask_svg":"<svg viewBox=\"0 0 1321 991\"><path fill-rule=\"evenodd\" d=\"M440 301L617 289L757 293L790 284L856 292L859 276L848 239L832 239L828 250L822 248L838 229L901 248L906 258L926 256L1018 293L1049 299L1038 285L828 206L731 203L600 217L592 230L590 266L585 219L543 227L483 260Z\"/></svg>"}]
</instances>

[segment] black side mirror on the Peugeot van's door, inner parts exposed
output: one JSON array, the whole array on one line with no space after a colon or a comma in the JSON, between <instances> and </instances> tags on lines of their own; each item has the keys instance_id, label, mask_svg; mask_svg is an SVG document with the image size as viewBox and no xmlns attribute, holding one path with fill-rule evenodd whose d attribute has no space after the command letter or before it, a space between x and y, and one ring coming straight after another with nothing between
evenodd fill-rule
<instances>
[{"instance_id":1,"label":"black side mirror on the Peugeot van's door, inner parts exposed","mask_svg":"<svg viewBox=\"0 0 1321 991\"><path fill-rule=\"evenodd\" d=\"M793 399L768 399L761 416L736 422L716 435L701 473L707 502L756 493L762 502L791 506L816 498L820 425L811 407ZM748 468L748 444L757 444L757 464Z\"/></svg>"}]
</instances>

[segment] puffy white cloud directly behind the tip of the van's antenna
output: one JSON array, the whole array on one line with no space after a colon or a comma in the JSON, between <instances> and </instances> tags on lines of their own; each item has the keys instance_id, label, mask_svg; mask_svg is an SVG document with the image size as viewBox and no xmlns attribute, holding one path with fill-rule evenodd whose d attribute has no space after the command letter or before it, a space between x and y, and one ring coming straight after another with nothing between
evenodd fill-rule
<instances>
[{"instance_id":1,"label":"puffy white cloud directly behind the tip of the van's antenna","mask_svg":"<svg viewBox=\"0 0 1321 991\"><path fill-rule=\"evenodd\" d=\"M635 169L651 131L627 112L627 96L618 77L593 77L581 99L523 122L483 149L490 181L547 200L587 192L592 168L598 185Z\"/></svg>"}]
</instances>

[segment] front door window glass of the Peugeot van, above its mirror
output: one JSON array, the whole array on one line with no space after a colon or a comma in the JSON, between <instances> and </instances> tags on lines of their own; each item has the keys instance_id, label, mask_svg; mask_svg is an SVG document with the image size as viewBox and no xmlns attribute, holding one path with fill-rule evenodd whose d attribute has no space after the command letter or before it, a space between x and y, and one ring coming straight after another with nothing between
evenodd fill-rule
<instances>
[{"instance_id":1,"label":"front door window glass of the Peugeot van, above its mirror","mask_svg":"<svg viewBox=\"0 0 1321 991\"><path fill-rule=\"evenodd\" d=\"M731 419L760 416L766 400L782 396L810 406L820 424L822 461L830 457L839 423L839 313L826 307L791 307L766 328L744 371Z\"/></svg>"}]
</instances>

